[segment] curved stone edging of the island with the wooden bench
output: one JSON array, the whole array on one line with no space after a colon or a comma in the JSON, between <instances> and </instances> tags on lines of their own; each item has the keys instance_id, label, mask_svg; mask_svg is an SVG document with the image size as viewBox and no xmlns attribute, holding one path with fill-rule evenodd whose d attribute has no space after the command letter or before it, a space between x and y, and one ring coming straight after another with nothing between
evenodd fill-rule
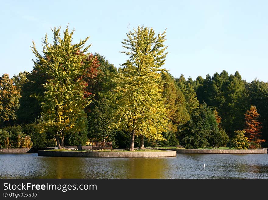
<instances>
[{"instance_id":1,"label":"curved stone edging of the island with the wooden bench","mask_svg":"<svg viewBox=\"0 0 268 200\"><path fill-rule=\"evenodd\" d=\"M47 151L39 150L38 156L60 157L171 157L177 156L175 151L164 150L161 152L96 152L96 151Z\"/></svg>"}]
</instances>

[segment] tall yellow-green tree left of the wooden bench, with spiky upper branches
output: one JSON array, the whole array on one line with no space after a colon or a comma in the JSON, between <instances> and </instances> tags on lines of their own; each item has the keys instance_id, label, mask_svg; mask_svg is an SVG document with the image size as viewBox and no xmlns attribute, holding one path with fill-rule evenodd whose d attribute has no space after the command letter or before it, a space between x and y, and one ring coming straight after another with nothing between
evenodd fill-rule
<instances>
[{"instance_id":1,"label":"tall yellow-green tree left of the wooden bench, with spiky upper branches","mask_svg":"<svg viewBox=\"0 0 268 200\"><path fill-rule=\"evenodd\" d=\"M69 32L67 27L61 38L60 29L52 30L52 44L46 34L43 56L38 53L34 42L32 46L37 58L33 61L35 68L47 77L43 84L43 96L37 96L42 108L39 127L41 131L54 133L58 149L64 148L66 135L85 131L87 120L84 108L92 98L84 81L92 75L92 59L86 53L90 45L84 47L88 37L72 44L74 30Z\"/></svg>"}]
</instances>

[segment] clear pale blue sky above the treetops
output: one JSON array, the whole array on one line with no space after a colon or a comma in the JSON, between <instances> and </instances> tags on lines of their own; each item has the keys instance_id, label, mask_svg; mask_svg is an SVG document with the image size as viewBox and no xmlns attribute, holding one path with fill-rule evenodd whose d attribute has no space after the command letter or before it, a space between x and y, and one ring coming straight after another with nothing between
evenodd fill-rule
<instances>
[{"instance_id":1,"label":"clear pale blue sky above the treetops","mask_svg":"<svg viewBox=\"0 0 268 200\"><path fill-rule=\"evenodd\" d=\"M267 82L268 1L5 1L0 0L0 75L30 72L30 46L42 50L51 28L75 28L73 41L90 36L89 51L119 67L127 57L121 41L137 26L166 31L165 68L196 79L226 70L242 79Z\"/></svg>"}]
</instances>

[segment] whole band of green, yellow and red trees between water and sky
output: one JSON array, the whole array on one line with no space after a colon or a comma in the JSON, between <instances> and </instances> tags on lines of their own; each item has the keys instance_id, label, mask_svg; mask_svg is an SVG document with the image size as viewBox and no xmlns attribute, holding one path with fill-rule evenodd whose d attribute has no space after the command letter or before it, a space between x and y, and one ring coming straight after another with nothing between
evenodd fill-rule
<instances>
[{"instance_id":1,"label":"whole band of green, yellow and red trees between water and sky","mask_svg":"<svg viewBox=\"0 0 268 200\"><path fill-rule=\"evenodd\" d=\"M72 44L74 30L52 30L35 48L31 72L0 77L0 148L85 145L267 147L268 83L226 71L195 80L173 77L165 62L165 31L139 26L122 41L120 67ZM135 137L136 136L136 137Z\"/></svg>"}]
</instances>

